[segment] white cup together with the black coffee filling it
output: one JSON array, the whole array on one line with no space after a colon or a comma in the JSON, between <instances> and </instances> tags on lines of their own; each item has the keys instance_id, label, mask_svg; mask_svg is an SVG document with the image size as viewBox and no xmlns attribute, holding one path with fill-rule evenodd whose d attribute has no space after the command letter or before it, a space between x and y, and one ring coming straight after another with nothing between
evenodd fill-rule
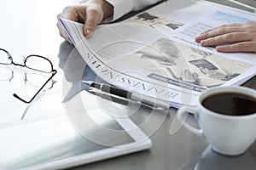
<instances>
[{"instance_id":1,"label":"white cup together with the black coffee filling it","mask_svg":"<svg viewBox=\"0 0 256 170\"><path fill-rule=\"evenodd\" d=\"M185 122L195 113L200 129ZM177 120L191 132L207 139L218 153L240 155L256 139L256 90L245 87L209 88L200 94L195 107L182 106Z\"/></svg>"}]
</instances>

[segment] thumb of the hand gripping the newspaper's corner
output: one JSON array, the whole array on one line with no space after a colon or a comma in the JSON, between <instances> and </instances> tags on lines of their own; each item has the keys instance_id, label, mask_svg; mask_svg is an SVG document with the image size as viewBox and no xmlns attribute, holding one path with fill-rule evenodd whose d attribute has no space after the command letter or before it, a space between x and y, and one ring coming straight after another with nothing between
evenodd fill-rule
<instances>
[{"instance_id":1,"label":"thumb of the hand gripping the newspaper's corner","mask_svg":"<svg viewBox=\"0 0 256 170\"><path fill-rule=\"evenodd\" d=\"M84 36L86 38L92 37L96 26L102 21L103 14L94 8L87 9L86 19L84 22Z\"/></svg>"}]
</instances>

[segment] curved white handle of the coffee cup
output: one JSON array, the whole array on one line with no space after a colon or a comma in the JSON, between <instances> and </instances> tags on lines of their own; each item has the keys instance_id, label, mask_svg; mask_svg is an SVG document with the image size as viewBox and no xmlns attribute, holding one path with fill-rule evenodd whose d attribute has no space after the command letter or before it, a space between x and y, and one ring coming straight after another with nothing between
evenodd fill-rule
<instances>
[{"instance_id":1,"label":"curved white handle of the coffee cup","mask_svg":"<svg viewBox=\"0 0 256 170\"><path fill-rule=\"evenodd\" d=\"M179 122L183 123L184 127L189 129L189 131L191 131L192 133L195 133L195 134L197 134L201 137L204 137L202 129L192 127L191 125L189 125L189 123L186 122L185 118L187 117L186 114L188 114L188 111L191 111L191 112L194 113L195 120L197 121L198 120L198 111L197 111L197 109L193 108L193 107L186 106L186 105L181 106L177 110L177 120Z\"/></svg>"}]
</instances>

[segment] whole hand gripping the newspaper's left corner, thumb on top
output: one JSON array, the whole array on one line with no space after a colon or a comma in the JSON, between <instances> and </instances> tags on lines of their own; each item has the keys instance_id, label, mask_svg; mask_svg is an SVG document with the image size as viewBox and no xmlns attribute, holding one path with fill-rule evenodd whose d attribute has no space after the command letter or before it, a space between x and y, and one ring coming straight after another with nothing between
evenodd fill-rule
<instances>
[{"instance_id":1,"label":"whole hand gripping the newspaper's left corner, thumb on top","mask_svg":"<svg viewBox=\"0 0 256 170\"><path fill-rule=\"evenodd\" d=\"M58 14L59 18L73 20L84 24L84 37L90 38L96 30L96 26L103 20L113 15L113 6L105 0L89 0L87 3L68 6ZM66 31L61 26L60 20L57 27L61 37L70 42Z\"/></svg>"}]
</instances>

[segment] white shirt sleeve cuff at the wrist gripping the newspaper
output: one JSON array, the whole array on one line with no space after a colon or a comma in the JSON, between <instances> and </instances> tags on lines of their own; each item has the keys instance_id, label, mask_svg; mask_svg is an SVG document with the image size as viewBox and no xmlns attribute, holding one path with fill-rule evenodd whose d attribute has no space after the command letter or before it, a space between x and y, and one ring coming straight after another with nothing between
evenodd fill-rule
<instances>
[{"instance_id":1,"label":"white shirt sleeve cuff at the wrist gripping the newspaper","mask_svg":"<svg viewBox=\"0 0 256 170\"><path fill-rule=\"evenodd\" d=\"M131 12L132 10L139 10L145 8L148 5L159 2L160 0L106 0L113 5L113 17L104 22L113 21L119 19L124 14Z\"/></svg>"}]
</instances>

